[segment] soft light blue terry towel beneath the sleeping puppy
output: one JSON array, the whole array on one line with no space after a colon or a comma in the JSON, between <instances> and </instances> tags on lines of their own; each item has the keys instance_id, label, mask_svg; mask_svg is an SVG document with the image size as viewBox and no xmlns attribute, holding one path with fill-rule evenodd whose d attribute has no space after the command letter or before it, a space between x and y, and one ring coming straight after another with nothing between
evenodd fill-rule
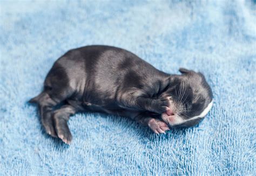
<instances>
[{"instance_id":1,"label":"soft light blue terry towel beneath the sleeping puppy","mask_svg":"<svg viewBox=\"0 0 256 176\"><path fill-rule=\"evenodd\" d=\"M253 1L0 1L1 175L255 175ZM77 114L70 146L45 135L36 107L71 48L125 48L158 69L201 71L214 105L195 128L155 135L127 118ZM118 73L117 73L118 74Z\"/></svg>"}]
</instances>

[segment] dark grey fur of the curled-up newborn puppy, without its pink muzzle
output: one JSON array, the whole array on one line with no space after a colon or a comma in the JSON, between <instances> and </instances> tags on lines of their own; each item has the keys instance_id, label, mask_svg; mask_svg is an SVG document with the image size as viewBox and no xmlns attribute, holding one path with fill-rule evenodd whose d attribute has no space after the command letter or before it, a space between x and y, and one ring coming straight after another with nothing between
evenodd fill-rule
<instances>
[{"instance_id":1,"label":"dark grey fur of the curled-up newborn puppy, without its pink muzzle","mask_svg":"<svg viewBox=\"0 0 256 176\"><path fill-rule=\"evenodd\" d=\"M46 132L70 143L67 122L77 111L117 114L149 125L160 121L160 114L169 106L166 97L172 96L184 119L199 115L212 101L211 88L203 74L187 69L180 72L161 72L121 48L85 46L68 51L55 62L43 92L30 102L39 105ZM55 110L60 103L62 107ZM181 126L197 123L199 119Z\"/></svg>"}]
</instances>

